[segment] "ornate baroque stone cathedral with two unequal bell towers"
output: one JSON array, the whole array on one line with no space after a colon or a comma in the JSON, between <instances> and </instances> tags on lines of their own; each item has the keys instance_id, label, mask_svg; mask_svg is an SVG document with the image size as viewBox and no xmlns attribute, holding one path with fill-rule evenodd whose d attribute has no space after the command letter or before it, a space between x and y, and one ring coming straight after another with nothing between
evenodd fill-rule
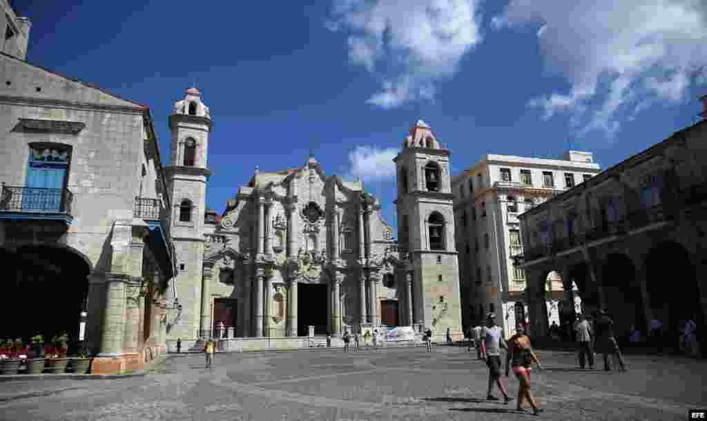
<instances>
[{"instance_id":1,"label":"ornate baroque stone cathedral with two unequal bell towers","mask_svg":"<svg viewBox=\"0 0 707 421\"><path fill-rule=\"evenodd\" d=\"M418 121L397 162L400 242L361 181L327 176L314 157L256 169L221 217L206 210L209 134L191 88L170 115L170 229L182 305L169 339L340 336L412 326L461 335L449 151Z\"/></svg>"}]
</instances>

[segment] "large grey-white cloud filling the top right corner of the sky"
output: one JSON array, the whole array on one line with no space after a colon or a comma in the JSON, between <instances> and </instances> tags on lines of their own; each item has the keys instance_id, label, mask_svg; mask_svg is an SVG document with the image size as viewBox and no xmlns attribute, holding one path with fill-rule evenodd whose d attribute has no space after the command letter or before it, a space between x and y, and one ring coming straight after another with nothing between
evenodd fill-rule
<instances>
[{"instance_id":1,"label":"large grey-white cloud filling the top right corner of the sky","mask_svg":"<svg viewBox=\"0 0 707 421\"><path fill-rule=\"evenodd\" d=\"M549 92L529 106L544 109L544 118L571 113L580 133L600 129L612 136L624 112L635 118L653 99L682 102L691 86L706 80L706 5L512 0L492 27L537 25L546 67L571 85L568 94Z\"/></svg>"}]
</instances>

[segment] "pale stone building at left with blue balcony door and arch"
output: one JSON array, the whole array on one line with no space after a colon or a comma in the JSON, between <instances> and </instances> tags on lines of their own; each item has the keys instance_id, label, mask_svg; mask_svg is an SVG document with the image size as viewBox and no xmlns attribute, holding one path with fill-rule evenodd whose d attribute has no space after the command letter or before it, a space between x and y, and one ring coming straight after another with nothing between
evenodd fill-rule
<instances>
[{"instance_id":1,"label":"pale stone building at left with blue balcony door and arch","mask_svg":"<svg viewBox=\"0 0 707 421\"><path fill-rule=\"evenodd\" d=\"M0 336L66 332L71 353L85 311L91 372L138 369L165 352L175 271L150 111L24 61L30 23L0 5Z\"/></svg>"}]
</instances>

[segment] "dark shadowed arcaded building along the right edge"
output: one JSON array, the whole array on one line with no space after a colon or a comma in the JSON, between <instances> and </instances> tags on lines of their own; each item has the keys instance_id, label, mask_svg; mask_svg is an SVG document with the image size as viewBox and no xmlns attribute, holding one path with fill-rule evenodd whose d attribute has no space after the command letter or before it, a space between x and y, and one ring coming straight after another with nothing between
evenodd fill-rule
<instances>
[{"instance_id":1,"label":"dark shadowed arcaded building along the right edge","mask_svg":"<svg viewBox=\"0 0 707 421\"><path fill-rule=\"evenodd\" d=\"M585 310L614 316L619 338L653 317L671 345L686 318L704 335L706 142L700 121L520 215L533 334L547 333L544 280L557 271L566 295L575 283Z\"/></svg>"}]
</instances>

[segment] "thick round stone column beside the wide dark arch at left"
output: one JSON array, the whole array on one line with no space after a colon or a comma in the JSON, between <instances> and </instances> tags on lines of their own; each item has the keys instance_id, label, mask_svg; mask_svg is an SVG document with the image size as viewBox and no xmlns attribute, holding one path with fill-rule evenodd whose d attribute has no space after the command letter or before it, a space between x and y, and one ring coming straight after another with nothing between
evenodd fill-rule
<instances>
[{"instance_id":1,"label":"thick round stone column beside the wide dark arch at left","mask_svg":"<svg viewBox=\"0 0 707 421\"><path fill-rule=\"evenodd\" d=\"M129 276L106 274L105 278L105 312L98 357L119 357L123 353L125 284Z\"/></svg>"}]
</instances>

